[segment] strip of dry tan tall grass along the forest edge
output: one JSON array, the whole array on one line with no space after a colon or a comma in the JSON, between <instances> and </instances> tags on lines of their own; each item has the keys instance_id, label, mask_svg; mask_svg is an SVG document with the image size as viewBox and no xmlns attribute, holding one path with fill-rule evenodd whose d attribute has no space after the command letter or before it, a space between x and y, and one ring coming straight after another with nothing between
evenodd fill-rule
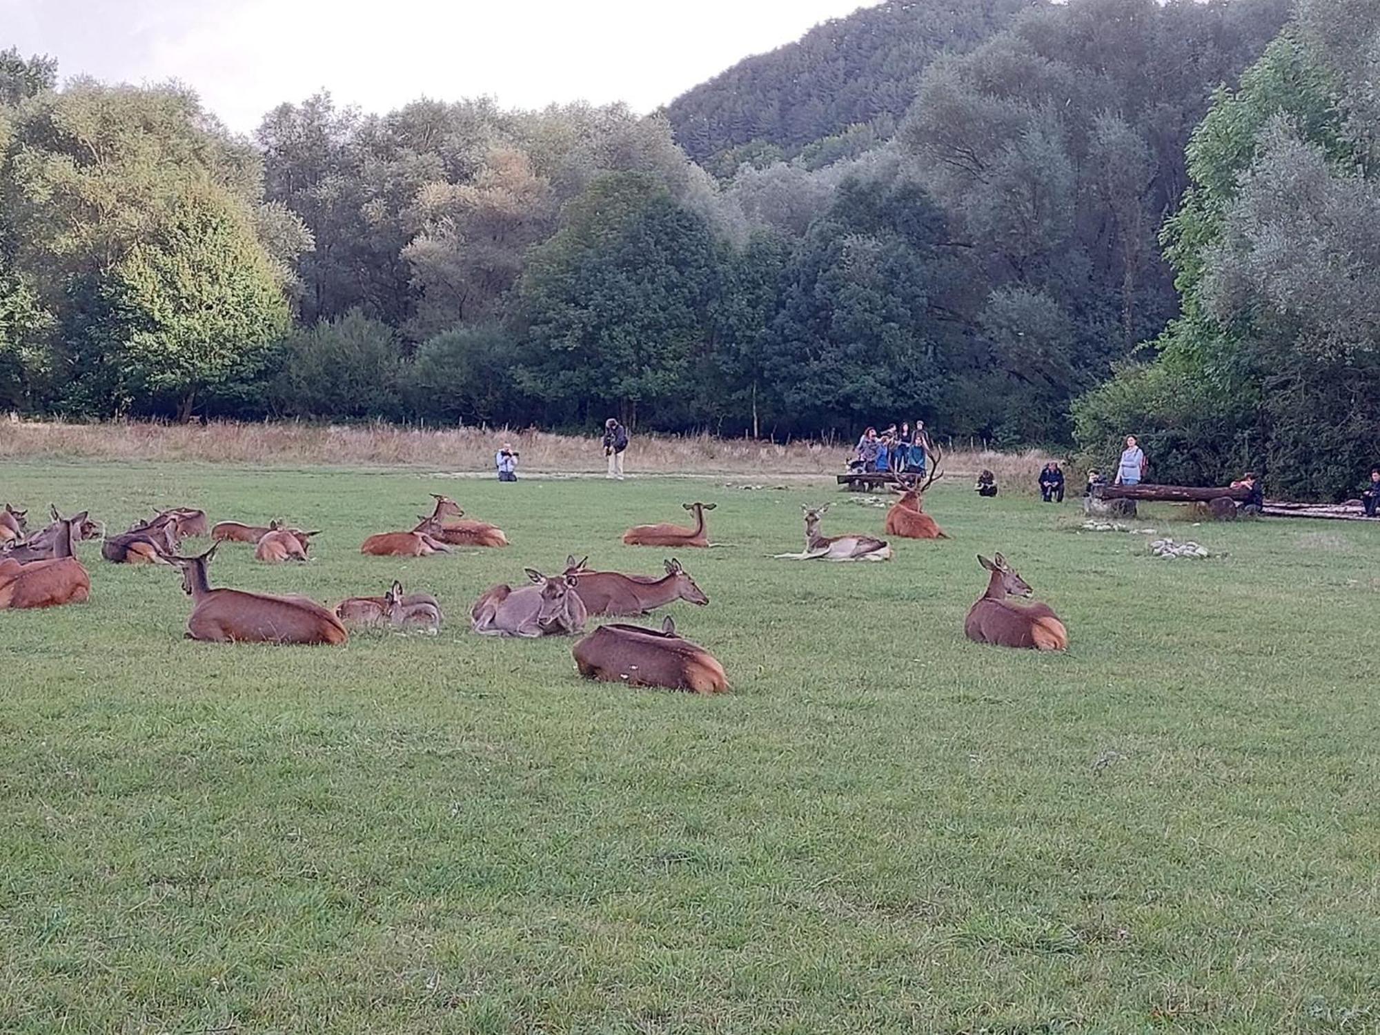
<instances>
[{"instance_id":1,"label":"strip of dry tan tall grass along the forest edge","mask_svg":"<svg viewBox=\"0 0 1380 1035\"><path fill-rule=\"evenodd\" d=\"M520 471L595 473L604 457L595 437L538 431L475 428L402 428L396 425L319 426L305 424L208 425L168 424L0 424L0 455L52 460L199 461L269 466L411 466L432 471L491 472L504 443L522 454ZM711 435L638 435L628 453L629 473L828 476L843 471L849 450L839 444L792 442L776 444ZM991 468L999 484L1029 491L1046 457L952 451L945 462L949 480L974 477Z\"/></svg>"}]
</instances>

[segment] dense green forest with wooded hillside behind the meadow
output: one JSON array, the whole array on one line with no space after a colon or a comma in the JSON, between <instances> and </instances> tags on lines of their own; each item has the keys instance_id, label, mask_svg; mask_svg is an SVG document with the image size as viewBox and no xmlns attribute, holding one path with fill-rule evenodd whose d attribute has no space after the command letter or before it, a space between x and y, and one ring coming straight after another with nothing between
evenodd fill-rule
<instances>
[{"instance_id":1,"label":"dense green forest with wooded hillside behind the meadow","mask_svg":"<svg viewBox=\"0 0 1380 1035\"><path fill-rule=\"evenodd\" d=\"M0 407L760 436L920 417L1344 491L1380 450L1365 0L893 0L638 116L0 52Z\"/></svg>"}]
</instances>

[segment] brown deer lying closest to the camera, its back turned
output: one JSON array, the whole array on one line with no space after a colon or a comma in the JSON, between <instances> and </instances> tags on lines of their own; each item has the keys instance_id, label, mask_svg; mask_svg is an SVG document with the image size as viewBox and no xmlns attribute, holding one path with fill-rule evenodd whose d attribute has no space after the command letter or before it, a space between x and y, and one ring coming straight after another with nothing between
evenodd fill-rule
<instances>
[{"instance_id":1,"label":"brown deer lying closest to the camera, its back turned","mask_svg":"<svg viewBox=\"0 0 1380 1035\"><path fill-rule=\"evenodd\" d=\"M697 694L729 689L723 665L704 647L680 639L668 617L661 632L640 625L600 625L570 651L585 679L628 686L664 686Z\"/></svg>"}]
</instances>

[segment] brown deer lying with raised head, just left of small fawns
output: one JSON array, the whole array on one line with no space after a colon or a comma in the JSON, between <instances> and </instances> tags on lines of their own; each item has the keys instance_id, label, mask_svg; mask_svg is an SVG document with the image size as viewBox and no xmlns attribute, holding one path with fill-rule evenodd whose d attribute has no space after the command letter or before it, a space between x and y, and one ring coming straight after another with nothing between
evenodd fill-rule
<instances>
[{"instance_id":1,"label":"brown deer lying with raised head, just left of small fawns","mask_svg":"<svg viewBox=\"0 0 1380 1035\"><path fill-rule=\"evenodd\" d=\"M219 542L197 558L170 558L182 569L182 592L192 598L186 638L215 643L345 643L339 620L305 596L269 596L211 589L206 567Z\"/></svg>"}]
</instances>

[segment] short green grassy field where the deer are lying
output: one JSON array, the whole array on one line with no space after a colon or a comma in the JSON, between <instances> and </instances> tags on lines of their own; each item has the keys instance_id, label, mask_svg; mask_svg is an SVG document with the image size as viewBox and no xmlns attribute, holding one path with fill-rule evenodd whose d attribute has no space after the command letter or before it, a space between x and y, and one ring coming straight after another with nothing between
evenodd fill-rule
<instances>
[{"instance_id":1,"label":"short green grassy field where the deer are lying","mask_svg":"<svg viewBox=\"0 0 1380 1035\"><path fill-rule=\"evenodd\" d=\"M357 552L428 493L513 545ZM469 603L566 553L657 571L632 523L719 504L678 604L719 698L577 678ZM10 462L0 500L322 527L213 585L440 598L437 638L182 639L175 573L0 613L4 1032L1322 1032L1380 1029L1380 529L1138 522L941 483L948 542L771 560L882 527L822 486ZM978 551L1067 656L967 643ZM691 553L691 552L686 552Z\"/></svg>"}]
</instances>

